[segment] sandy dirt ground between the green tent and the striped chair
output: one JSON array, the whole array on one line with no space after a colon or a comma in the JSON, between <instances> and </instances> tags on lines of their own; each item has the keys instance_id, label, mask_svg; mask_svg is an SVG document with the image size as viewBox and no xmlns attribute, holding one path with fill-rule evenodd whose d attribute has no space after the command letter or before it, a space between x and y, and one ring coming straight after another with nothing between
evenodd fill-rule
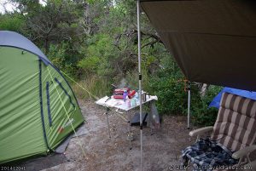
<instances>
[{"instance_id":1,"label":"sandy dirt ground between the green tent and the striped chair","mask_svg":"<svg viewBox=\"0 0 256 171\"><path fill-rule=\"evenodd\" d=\"M131 171L140 170L139 128L132 127L134 140L127 141L128 124L113 111L109 113L112 139L108 138L108 124L105 109L89 101L79 100L86 119L88 134L73 138L65 152L68 162L45 171ZM189 138L186 117L163 117L158 131L143 128L143 168L145 171L172 170L180 165L181 150L195 140ZM81 150L84 149L84 155ZM175 170L175 169L174 169Z\"/></svg>"}]
</instances>

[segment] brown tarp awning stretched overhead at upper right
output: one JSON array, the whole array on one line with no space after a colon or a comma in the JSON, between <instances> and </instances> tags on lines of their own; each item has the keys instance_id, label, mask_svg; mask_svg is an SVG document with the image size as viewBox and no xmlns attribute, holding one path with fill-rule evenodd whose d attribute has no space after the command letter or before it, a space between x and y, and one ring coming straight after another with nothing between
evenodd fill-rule
<instances>
[{"instance_id":1,"label":"brown tarp awning stretched overhead at upper right","mask_svg":"<svg viewBox=\"0 0 256 171\"><path fill-rule=\"evenodd\" d=\"M247 0L141 1L192 82L256 91L256 5Z\"/></svg>"}]
</instances>

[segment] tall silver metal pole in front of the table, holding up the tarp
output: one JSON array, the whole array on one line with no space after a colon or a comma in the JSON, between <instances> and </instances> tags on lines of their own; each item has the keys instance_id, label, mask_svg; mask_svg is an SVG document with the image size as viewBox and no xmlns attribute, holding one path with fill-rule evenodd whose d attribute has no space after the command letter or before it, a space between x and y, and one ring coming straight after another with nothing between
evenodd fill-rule
<instances>
[{"instance_id":1,"label":"tall silver metal pole in front of the table, holding up the tarp","mask_svg":"<svg viewBox=\"0 0 256 171\"><path fill-rule=\"evenodd\" d=\"M139 71L139 100L140 100L140 134L141 134L141 170L143 171L143 105L142 105L142 66L141 66L141 28L140 0L137 0L137 56Z\"/></svg>"}]
</instances>

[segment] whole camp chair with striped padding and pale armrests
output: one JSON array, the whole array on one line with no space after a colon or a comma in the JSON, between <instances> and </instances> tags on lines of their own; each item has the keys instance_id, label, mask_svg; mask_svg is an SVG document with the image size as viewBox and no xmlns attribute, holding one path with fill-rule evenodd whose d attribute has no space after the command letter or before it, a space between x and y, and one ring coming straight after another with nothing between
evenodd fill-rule
<instances>
[{"instance_id":1,"label":"whole camp chair with striped padding and pale armrests","mask_svg":"<svg viewBox=\"0 0 256 171\"><path fill-rule=\"evenodd\" d=\"M256 161L251 162L249 158L249 154L256 150L256 100L224 93L214 127L199 128L189 132L189 135L197 136L198 142L201 135L210 131L210 140L223 145L231 152L230 156L236 160L236 167L247 163L246 166L250 165L256 170ZM189 158L188 156L186 157ZM189 162L192 160L189 158Z\"/></svg>"}]
</instances>

